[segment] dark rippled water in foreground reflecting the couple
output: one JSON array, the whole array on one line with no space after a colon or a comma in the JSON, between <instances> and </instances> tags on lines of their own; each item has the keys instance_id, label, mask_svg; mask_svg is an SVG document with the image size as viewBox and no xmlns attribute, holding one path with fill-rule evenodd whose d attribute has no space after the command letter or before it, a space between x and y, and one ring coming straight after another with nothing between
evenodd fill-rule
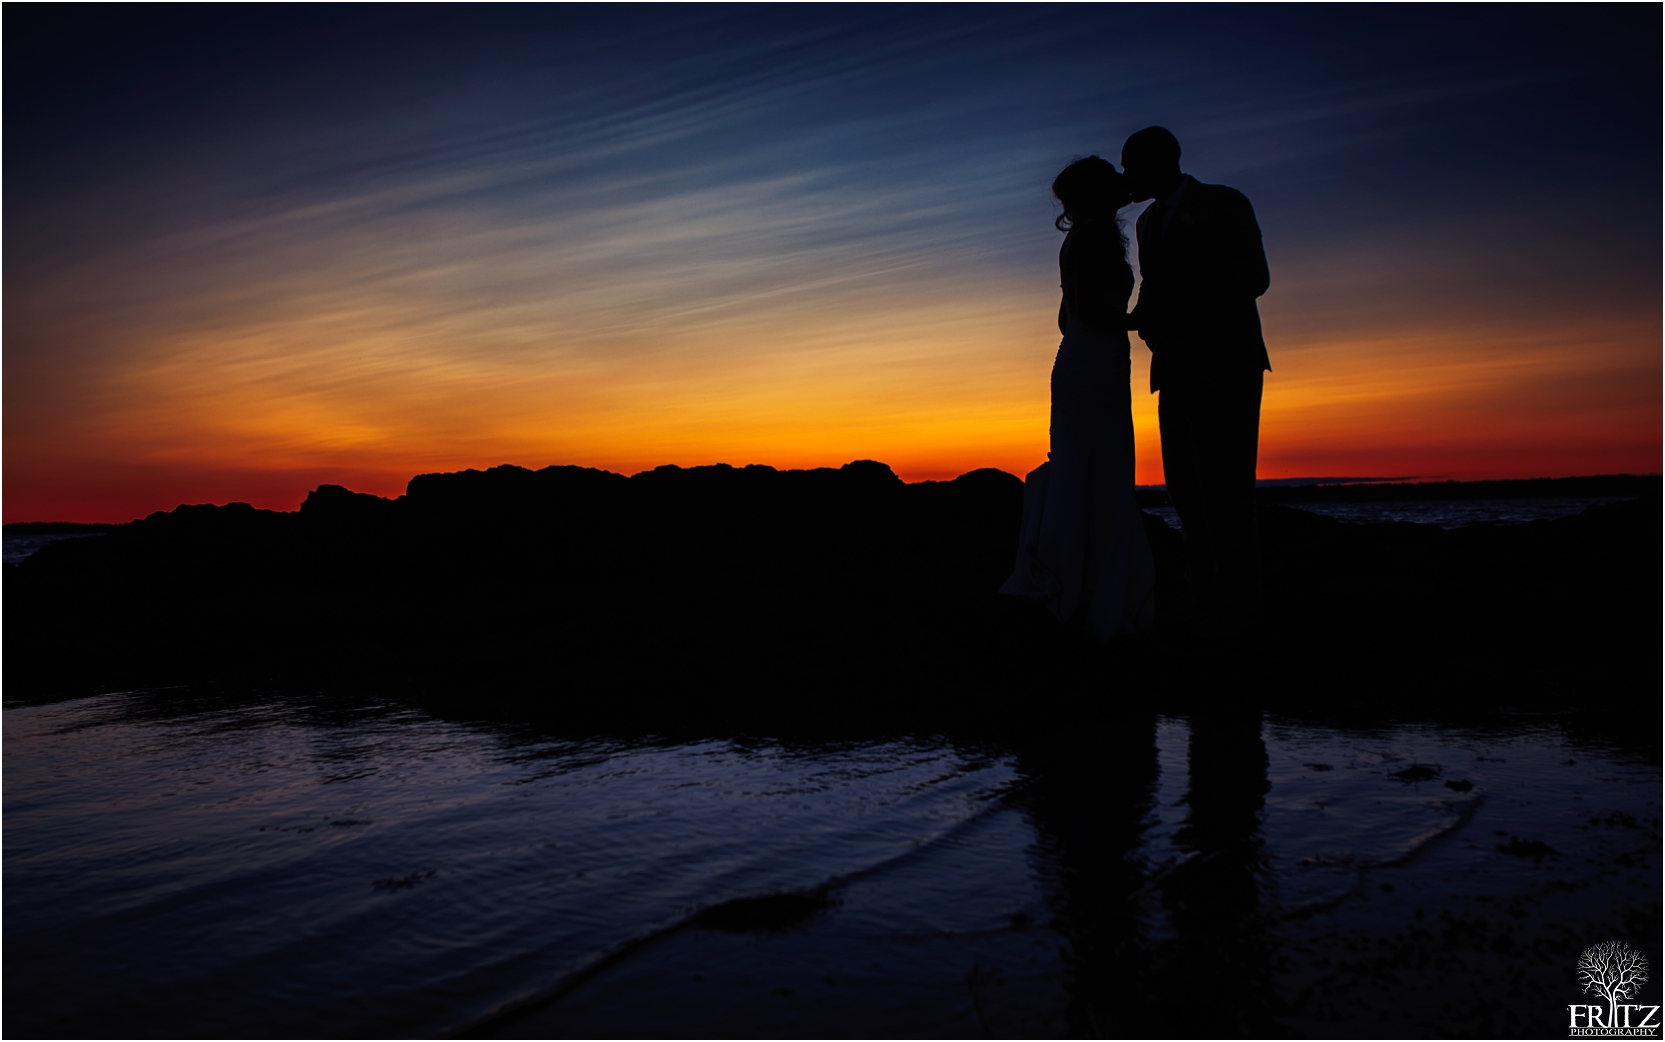
<instances>
[{"instance_id":1,"label":"dark rippled water in foreground reflecting the couple","mask_svg":"<svg viewBox=\"0 0 1665 1042\"><path fill-rule=\"evenodd\" d=\"M8 704L3 1029L1124 1034L1107 997L1210 962L1187 989L1247 1027L1530 1034L1587 1000L1577 950L1658 934L1658 761L1555 716L1091 729L1121 734L1064 764L340 694ZM1494 977L1518 995L1480 1009Z\"/></svg>"}]
</instances>

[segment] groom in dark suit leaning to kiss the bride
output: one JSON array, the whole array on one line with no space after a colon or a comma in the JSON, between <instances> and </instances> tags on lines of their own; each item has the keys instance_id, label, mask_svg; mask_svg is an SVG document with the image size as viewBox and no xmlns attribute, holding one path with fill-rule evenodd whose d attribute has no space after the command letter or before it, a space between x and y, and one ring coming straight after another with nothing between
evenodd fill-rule
<instances>
[{"instance_id":1,"label":"groom in dark suit leaning to kiss the bride","mask_svg":"<svg viewBox=\"0 0 1665 1042\"><path fill-rule=\"evenodd\" d=\"M1146 127L1122 145L1139 215L1139 305L1129 326L1151 348L1161 393L1162 471L1204 618L1250 636L1260 593L1254 518L1260 390L1272 368L1255 298L1270 285L1254 206L1179 168L1179 140Z\"/></svg>"}]
</instances>

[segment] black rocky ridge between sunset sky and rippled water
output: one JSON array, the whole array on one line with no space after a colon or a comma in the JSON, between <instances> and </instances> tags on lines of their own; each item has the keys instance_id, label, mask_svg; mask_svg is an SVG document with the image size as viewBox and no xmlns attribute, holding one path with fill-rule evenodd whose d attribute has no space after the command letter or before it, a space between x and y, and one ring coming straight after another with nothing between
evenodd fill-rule
<instances>
[{"instance_id":1,"label":"black rocky ridge between sunset sky and rippled water","mask_svg":"<svg viewBox=\"0 0 1665 1042\"><path fill-rule=\"evenodd\" d=\"M1660 503L1444 531L1262 508L1277 701L1487 702L1660 681ZM589 712L867 704L1004 714L1049 692L1182 692L1177 533L1147 516L1156 639L1097 649L996 593L1022 484L841 469L421 474L295 513L181 506L8 569L13 697L213 677L331 677ZM819 697L837 694L837 697ZM658 709L654 709L658 707Z\"/></svg>"}]
</instances>

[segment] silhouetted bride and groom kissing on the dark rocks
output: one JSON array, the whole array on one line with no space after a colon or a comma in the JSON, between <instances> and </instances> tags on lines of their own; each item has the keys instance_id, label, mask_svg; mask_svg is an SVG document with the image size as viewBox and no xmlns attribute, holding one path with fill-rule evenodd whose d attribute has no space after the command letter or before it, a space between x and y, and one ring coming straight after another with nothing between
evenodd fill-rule
<instances>
[{"instance_id":1,"label":"silhouetted bride and groom kissing on the dark rocks","mask_svg":"<svg viewBox=\"0 0 1665 1042\"><path fill-rule=\"evenodd\" d=\"M1147 127L1122 168L1076 160L1052 181L1062 205L1064 335L1052 365L1052 451L1024 483L1017 568L1002 593L1044 601L1107 641L1154 621L1156 568L1134 501L1129 330L1151 348L1162 471L1185 543L1189 599L1207 629L1255 624L1254 519L1260 388L1270 370L1255 298L1270 281L1254 206L1179 168L1179 141ZM1139 215L1139 305L1116 213Z\"/></svg>"}]
</instances>

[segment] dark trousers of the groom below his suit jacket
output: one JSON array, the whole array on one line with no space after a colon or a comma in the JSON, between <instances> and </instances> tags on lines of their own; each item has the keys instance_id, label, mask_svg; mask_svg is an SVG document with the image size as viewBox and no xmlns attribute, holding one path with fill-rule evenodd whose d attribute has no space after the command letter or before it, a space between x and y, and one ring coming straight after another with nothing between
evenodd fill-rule
<instances>
[{"instance_id":1,"label":"dark trousers of the groom below his suit jacket","mask_svg":"<svg viewBox=\"0 0 1665 1042\"><path fill-rule=\"evenodd\" d=\"M1260 591L1254 476L1264 375L1164 388L1162 471L1185 536L1185 573L1209 614L1252 616Z\"/></svg>"}]
</instances>

